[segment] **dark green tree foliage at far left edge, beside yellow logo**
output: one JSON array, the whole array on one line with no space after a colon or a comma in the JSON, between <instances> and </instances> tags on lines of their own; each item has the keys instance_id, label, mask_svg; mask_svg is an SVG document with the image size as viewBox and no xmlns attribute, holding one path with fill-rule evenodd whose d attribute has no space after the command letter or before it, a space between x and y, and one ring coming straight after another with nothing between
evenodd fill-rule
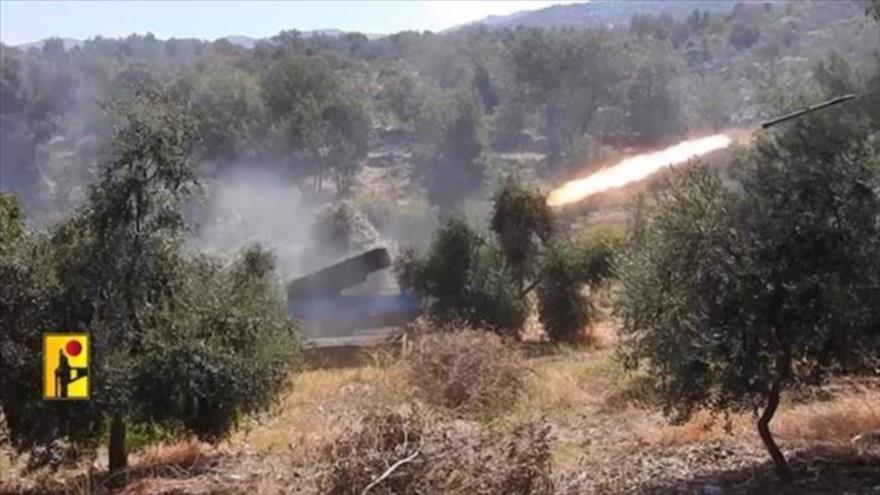
<instances>
[{"instance_id":1,"label":"dark green tree foliage at far left edge, beside yellow logo","mask_svg":"<svg viewBox=\"0 0 880 495\"><path fill-rule=\"evenodd\" d=\"M17 222L13 228L21 230ZM6 440L30 451L33 464L56 458L46 448L56 439L91 446L102 430L96 400L52 403L42 398L43 332L83 328L77 321L82 305L71 304L79 301L71 300L75 289L59 280L58 258L45 235L0 239L0 408Z\"/></svg>"}]
</instances>

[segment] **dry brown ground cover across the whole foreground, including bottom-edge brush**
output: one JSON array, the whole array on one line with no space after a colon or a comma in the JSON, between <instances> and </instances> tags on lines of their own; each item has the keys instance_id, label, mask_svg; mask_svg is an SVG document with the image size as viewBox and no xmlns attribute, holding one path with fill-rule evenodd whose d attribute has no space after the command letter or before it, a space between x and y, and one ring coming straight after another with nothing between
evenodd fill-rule
<instances>
[{"instance_id":1,"label":"dry brown ground cover across the whole foreground, including bottom-edge brush","mask_svg":"<svg viewBox=\"0 0 880 495\"><path fill-rule=\"evenodd\" d=\"M444 352L454 347L445 344ZM519 392L501 394L505 407L476 409L432 405L425 391L435 393L438 384L412 375L426 352L294 375L274 410L219 446L184 440L135 453L124 493L361 493L411 456L369 493L391 493L393 486L394 493L408 493L404 486L421 493L572 494L694 493L706 485L723 493L880 489L880 456L850 444L857 433L880 429L876 379L839 379L786 397L771 426L798 481L779 486L752 415L701 412L671 425L654 404L650 377L621 371L613 346L557 349L523 361L504 354L498 362L523 367ZM438 355L444 353L431 356ZM497 364L488 353L462 359L482 372ZM96 480L103 466L88 461L28 476L17 466L3 466L0 491L102 491Z\"/></svg>"}]
</instances>

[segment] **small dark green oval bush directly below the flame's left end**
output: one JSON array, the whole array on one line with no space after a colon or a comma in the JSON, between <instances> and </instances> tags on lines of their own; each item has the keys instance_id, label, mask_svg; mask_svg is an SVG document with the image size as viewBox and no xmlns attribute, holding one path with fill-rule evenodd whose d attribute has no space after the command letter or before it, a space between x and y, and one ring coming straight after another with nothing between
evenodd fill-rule
<instances>
[{"instance_id":1,"label":"small dark green oval bush directly below the flame's left end","mask_svg":"<svg viewBox=\"0 0 880 495\"><path fill-rule=\"evenodd\" d=\"M581 261L575 249L557 242L542 260L538 283L538 316L554 342L576 342L590 320L591 304L584 287Z\"/></svg>"}]
</instances>

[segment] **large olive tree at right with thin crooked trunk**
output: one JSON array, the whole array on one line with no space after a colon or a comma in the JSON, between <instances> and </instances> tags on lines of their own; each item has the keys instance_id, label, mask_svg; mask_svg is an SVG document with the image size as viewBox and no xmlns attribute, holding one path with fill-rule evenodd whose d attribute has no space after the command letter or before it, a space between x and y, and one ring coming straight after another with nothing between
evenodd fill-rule
<instances>
[{"instance_id":1,"label":"large olive tree at right with thin crooked trunk","mask_svg":"<svg viewBox=\"0 0 880 495\"><path fill-rule=\"evenodd\" d=\"M696 169L662 193L619 260L630 364L668 411L760 410L783 390L872 364L880 350L880 169L864 129L814 116L759 139L741 189Z\"/></svg>"}]
</instances>

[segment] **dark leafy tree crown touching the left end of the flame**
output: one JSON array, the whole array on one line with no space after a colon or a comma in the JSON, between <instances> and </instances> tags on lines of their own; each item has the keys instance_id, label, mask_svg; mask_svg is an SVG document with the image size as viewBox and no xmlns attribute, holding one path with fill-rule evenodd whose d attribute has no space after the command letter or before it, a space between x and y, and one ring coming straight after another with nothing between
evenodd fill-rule
<instances>
[{"instance_id":1,"label":"dark leafy tree crown touching the left end of the flame","mask_svg":"<svg viewBox=\"0 0 880 495\"><path fill-rule=\"evenodd\" d=\"M495 193L490 227L522 286L533 272L539 249L553 235L553 212L546 197L508 176Z\"/></svg>"}]
</instances>

